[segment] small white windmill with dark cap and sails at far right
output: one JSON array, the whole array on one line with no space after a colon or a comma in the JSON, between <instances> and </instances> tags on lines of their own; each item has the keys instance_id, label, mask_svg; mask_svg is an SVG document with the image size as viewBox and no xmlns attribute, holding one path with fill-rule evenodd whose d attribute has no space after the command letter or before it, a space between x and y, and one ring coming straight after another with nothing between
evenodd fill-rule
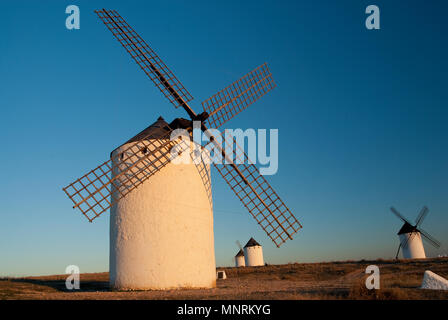
<instances>
[{"instance_id":1,"label":"small white windmill with dark cap and sails at far right","mask_svg":"<svg viewBox=\"0 0 448 320\"><path fill-rule=\"evenodd\" d=\"M426 258L425 249L422 243L423 238L428 241L431 245L436 248L440 247L440 242L429 235L428 232L424 231L420 225L423 220L427 216L429 209L424 206L417 218L415 219L415 224L412 225L405 217L403 217L397 209L394 207L390 207L390 210L393 214L395 214L399 219L401 219L404 224L401 229L398 231L398 237L400 239L400 244L398 246L397 254L395 259L398 258L398 254L400 253L400 249L403 252L403 258L405 259L424 259Z\"/></svg>"}]
</instances>

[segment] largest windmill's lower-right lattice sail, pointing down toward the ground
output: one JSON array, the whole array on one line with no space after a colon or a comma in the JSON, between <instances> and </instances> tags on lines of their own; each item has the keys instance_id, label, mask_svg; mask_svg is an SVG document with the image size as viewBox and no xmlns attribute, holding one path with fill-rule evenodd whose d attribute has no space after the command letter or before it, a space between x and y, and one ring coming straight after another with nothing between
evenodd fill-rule
<instances>
[{"instance_id":1,"label":"largest windmill's lower-right lattice sail, pointing down toward the ground","mask_svg":"<svg viewBox=\"0 0 448 320\"><path fill-rule=\"evenodd\" d=\"M226 151L229 150L229 145L235 146L232 147L232 157L230 158L227 154L227 158L233 161L239 173L231 164L214 164L215 168L269 238L277 247L280 247L286 240L292 239L292 235L297 233L302 225L260 174L236 140L225 134L221 134L221 139L225 141ZM244 176L247 183L240 174Z\"/></svg>"}]
</instances>

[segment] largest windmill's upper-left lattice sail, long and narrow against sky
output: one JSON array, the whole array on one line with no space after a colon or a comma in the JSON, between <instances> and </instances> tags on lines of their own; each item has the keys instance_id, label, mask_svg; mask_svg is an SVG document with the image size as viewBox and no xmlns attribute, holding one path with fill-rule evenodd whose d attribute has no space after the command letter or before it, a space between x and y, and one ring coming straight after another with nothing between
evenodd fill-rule
<instances>
[{"instance_id":1,"label":"largest windmill's upper-left lattice sail, long and narrow against sky","mask_svg":"<svg viewBox=\"0 0 448 320\"><path fill-rule=\"evenodd\" d=\"M132 59L137 62L143 72L176 108L181 106L178 96L185 102L193 100L191 94L171 70L117 11L103 9L95 10L95 13L131 55ZM161 80L160 75L164 80ZM164 81L167 81L169 85L166 85ZM174 89L174 92L172 89Z\"/></svg>"}]
</instances>

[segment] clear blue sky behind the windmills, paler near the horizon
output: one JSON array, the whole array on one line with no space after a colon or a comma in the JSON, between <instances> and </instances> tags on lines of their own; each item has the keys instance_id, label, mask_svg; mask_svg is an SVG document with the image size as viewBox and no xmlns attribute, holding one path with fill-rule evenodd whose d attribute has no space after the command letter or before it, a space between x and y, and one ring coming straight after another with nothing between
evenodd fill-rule
<instances>
[{"instance_id":1,"label":"clear blue sky behind the windmills, paler near the horizon","mask_svg":"<svg viewBox=\"0 0 448 320\"><path fill-rule=\"evenodd\" d=\"M65 8L81 10L80 30ZM381 29L367 30L376 4ZM303 224L277 249L213 171L218 266L255 237L268 263L392 258L400 221L448 254L446 1L2 1L0 275L108 270L62 187L154 122L166 101L93 13L116 9L200 102L268 62L277 83L229 122L279 129L271 185Z\"/></svg>"}]
</instances>

